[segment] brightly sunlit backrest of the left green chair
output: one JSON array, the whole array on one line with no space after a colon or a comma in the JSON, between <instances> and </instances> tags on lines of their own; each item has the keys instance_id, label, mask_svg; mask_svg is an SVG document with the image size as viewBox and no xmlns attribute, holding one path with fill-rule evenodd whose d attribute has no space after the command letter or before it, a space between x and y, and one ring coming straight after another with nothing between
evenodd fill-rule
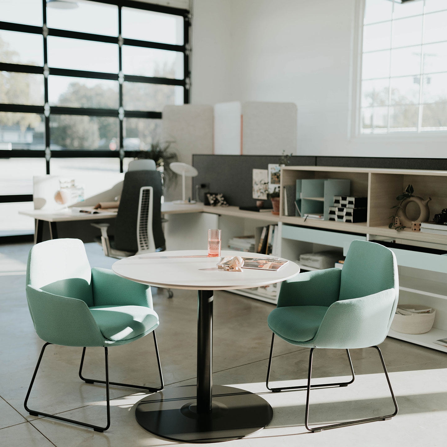
<instances>
[{"instance_id":1,"label":"brightly sunlit backrest of the left green chair","mask_svg":"<svg viewBox=\"0 0 447 447\"><path fill-rule=\"evenodd\" d=\"M93 306L92 271L79 239L53 239L34 245L28 255L26 285Z\"/></svg>"}]
</instances>

